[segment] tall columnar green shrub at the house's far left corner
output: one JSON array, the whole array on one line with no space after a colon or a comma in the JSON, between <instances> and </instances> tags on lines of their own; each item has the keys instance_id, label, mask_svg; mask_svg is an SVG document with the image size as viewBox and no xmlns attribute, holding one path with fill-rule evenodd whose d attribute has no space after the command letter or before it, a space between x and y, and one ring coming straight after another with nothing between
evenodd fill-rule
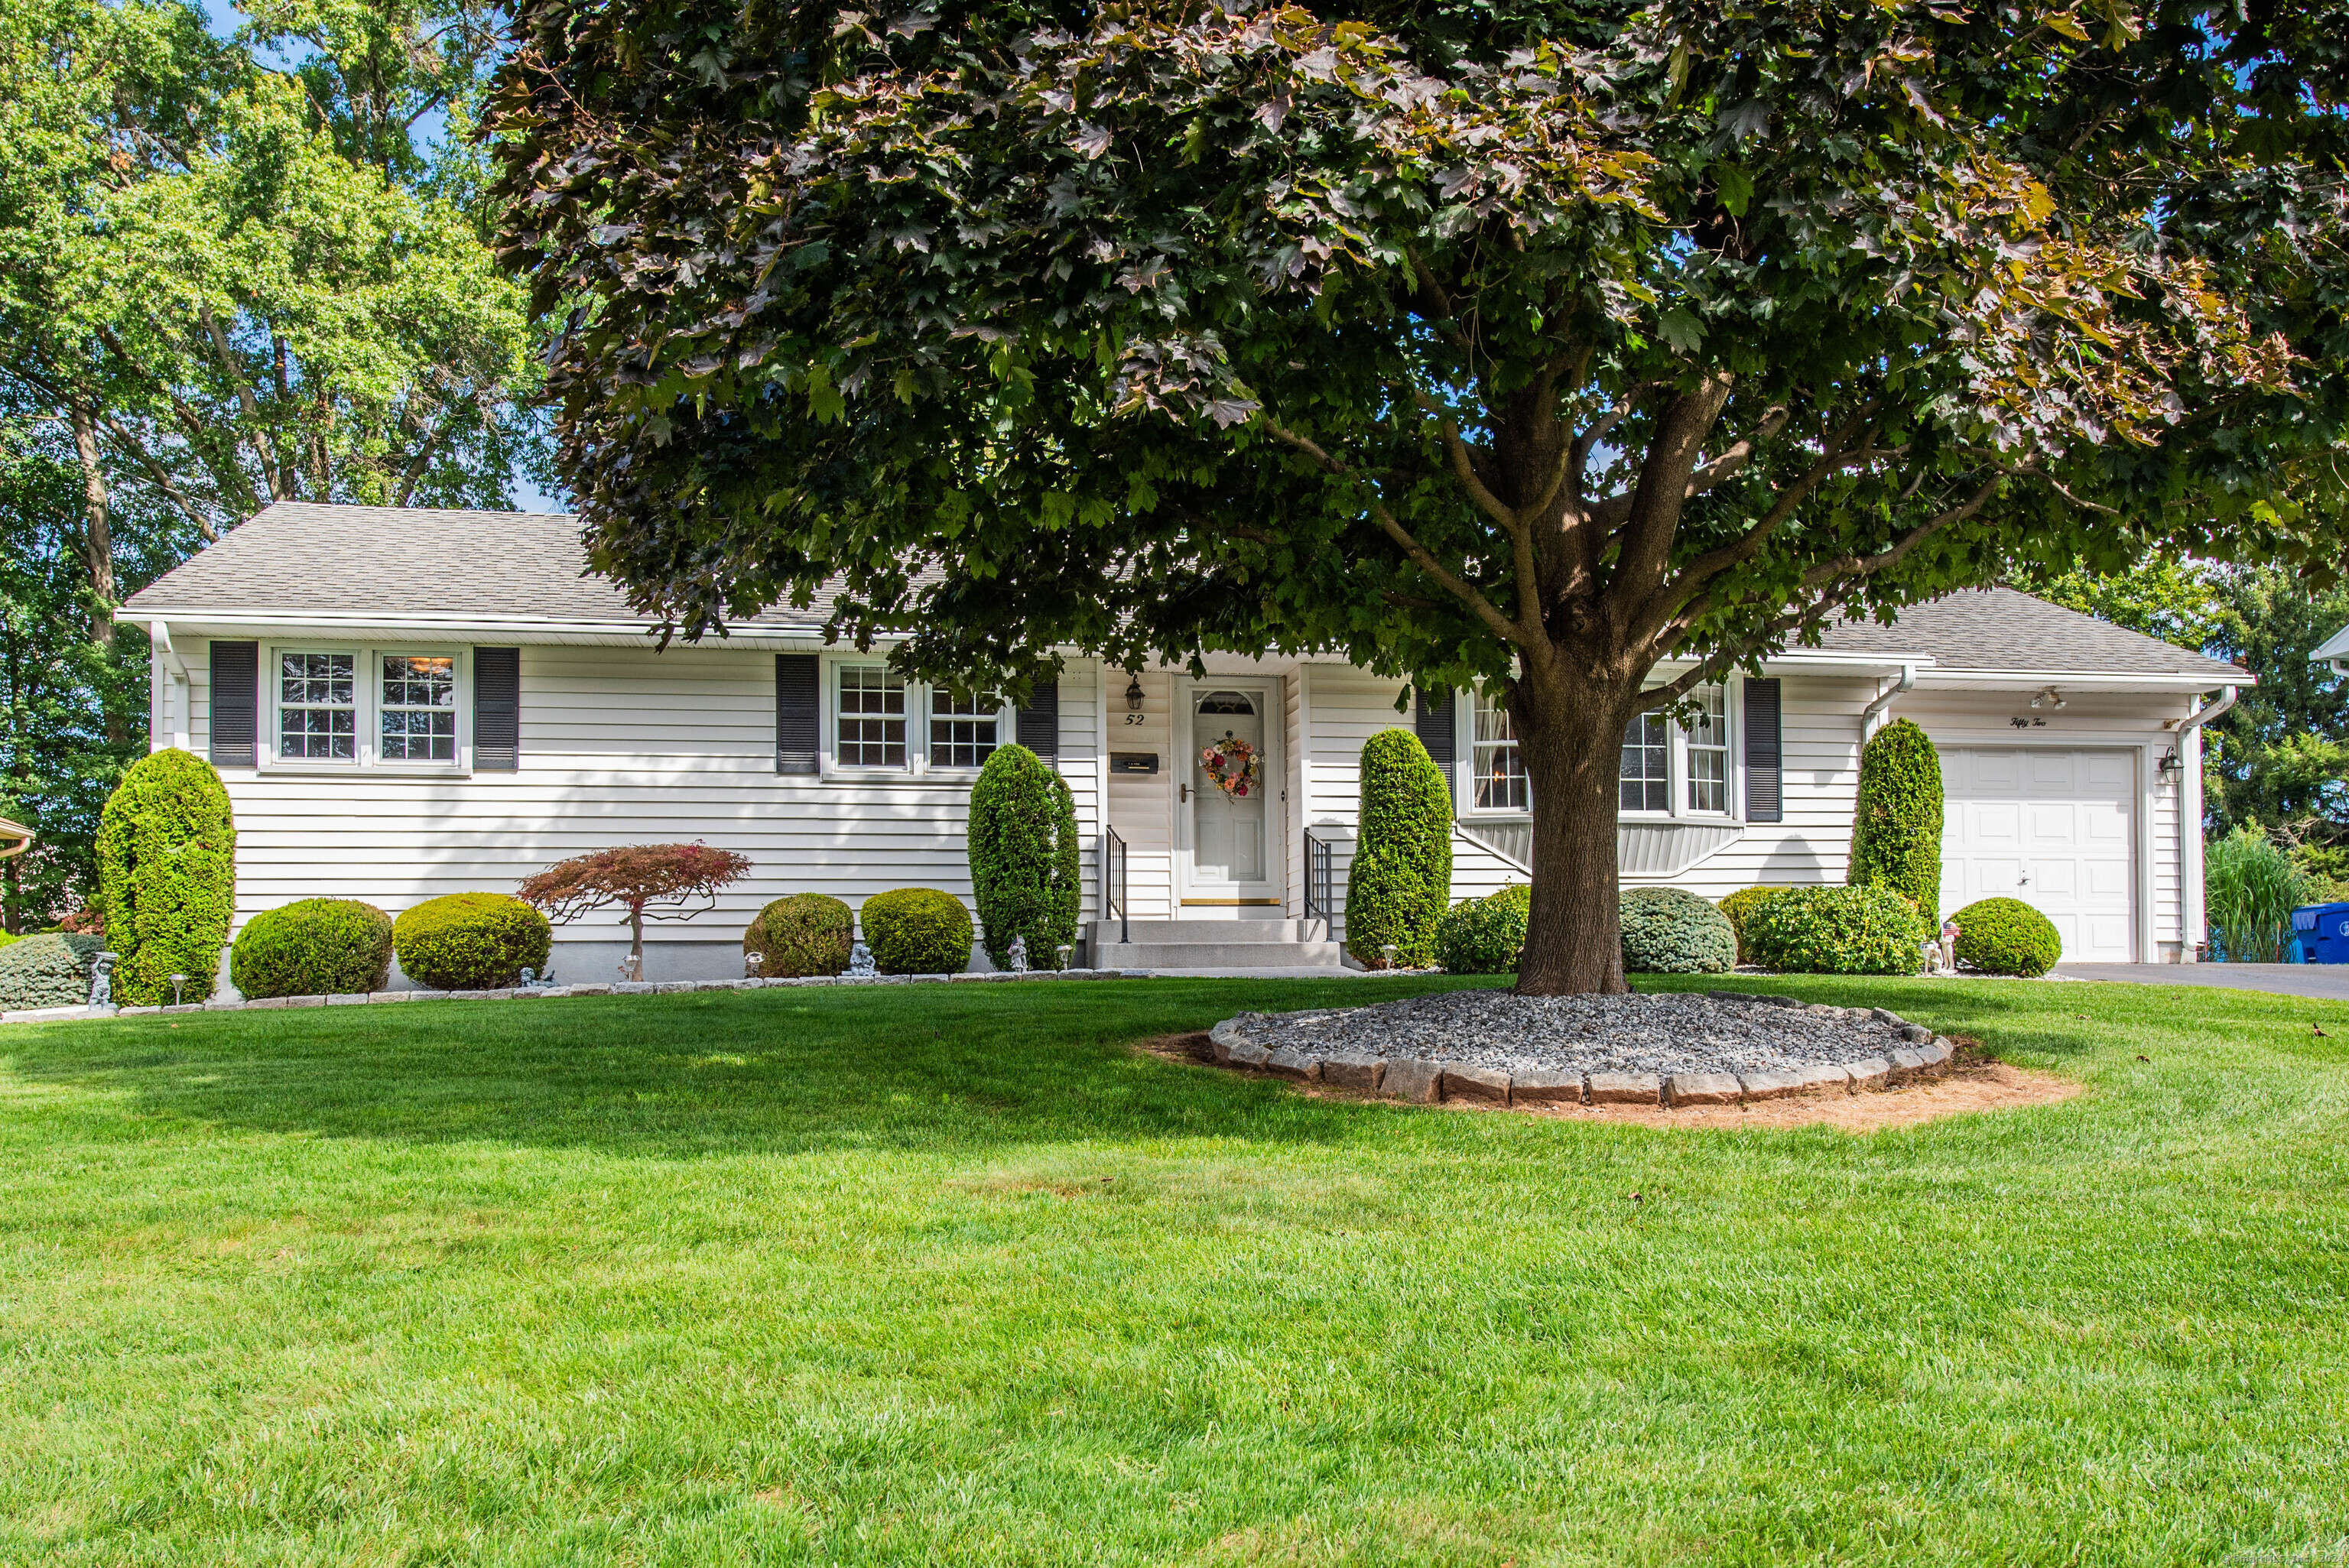
<instances>
[{"instance_id":1,"label":"tall columnar green shrub at the house's far left corner","mask_svg":"<svg viewBox=\"0 0 2349 1568\"><path fill-rule=\"evenodd\" d=\"M115 1000L153 1007L211 995L237 897L237 826L211 763L193 751L139 758L99 815L99 901L115 953Z\"/></svg>"}]
</instances>

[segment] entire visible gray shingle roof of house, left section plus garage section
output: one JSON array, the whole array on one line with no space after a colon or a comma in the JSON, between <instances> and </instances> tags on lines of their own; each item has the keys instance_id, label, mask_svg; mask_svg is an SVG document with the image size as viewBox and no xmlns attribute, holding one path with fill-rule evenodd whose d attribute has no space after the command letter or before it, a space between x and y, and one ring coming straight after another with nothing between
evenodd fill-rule
<instances>
[{"instance_id":1,"label":"entire visible gray shingle roof of house, left section plus garage section","mask_svg":"<svg viewBox=\"0 0 2349 1568\"><path fill-rule=\"evenodd\" d=\"M254 514L202 554L139 589L124 615L200 624L428 620L451 627L573 627L615 634L644 627L644 617L627 608L611 582L587 575L573 516L301 500ZM794 631L820 622L822 606L768 610L738 624ZM2234 664L2006 587L1912 606L1891 627L1837 624L1828 631L1823 653L1919 660L1938 676L1994 671L2048 681L2077 674L2248 681Z\"/></svg>"}]
</instances>

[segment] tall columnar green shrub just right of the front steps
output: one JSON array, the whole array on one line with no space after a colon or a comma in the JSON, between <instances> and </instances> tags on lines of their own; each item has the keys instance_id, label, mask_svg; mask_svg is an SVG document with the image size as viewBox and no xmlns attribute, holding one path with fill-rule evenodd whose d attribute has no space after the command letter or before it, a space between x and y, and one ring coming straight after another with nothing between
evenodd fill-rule
<instances>
[{"instance_id":1,"label":"tall columnar green shrub just right of the front steps","mask_svg":"<svg viewBox=\"0 0 2349 1568\"><path fill-rule=\"evenodd\" d=\"M1362 826L1346 873L1346 948L1365 965L1435 962L1435 922L1452 904L1452 789L1419 737L1362 742Z\"/></svg>"}]
</instances>

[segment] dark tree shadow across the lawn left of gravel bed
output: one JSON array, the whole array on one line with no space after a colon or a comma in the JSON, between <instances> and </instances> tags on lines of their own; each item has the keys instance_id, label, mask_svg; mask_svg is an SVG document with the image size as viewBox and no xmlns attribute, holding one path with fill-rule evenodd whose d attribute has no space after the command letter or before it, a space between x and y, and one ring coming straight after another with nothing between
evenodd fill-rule
<instances>
[{"instance_id":1,"label":"dark tree shadow across the lawn left of gravel bed","mask_svg":"<svg viewBox=\"0 0 2349 1568\"><path fill-rule=\"evenodd\" d=\"M1367 986L1377 984L1377 991ZM1344 1141L1377 1108L1139 1056L1233 1012L1447 981L1071 981L186 1014L0 1042L28 1080L141 1115L625 1155L1076 1138ZM1452 981L1456 984L1456 981Z\"/></svg>"}]
</instances>

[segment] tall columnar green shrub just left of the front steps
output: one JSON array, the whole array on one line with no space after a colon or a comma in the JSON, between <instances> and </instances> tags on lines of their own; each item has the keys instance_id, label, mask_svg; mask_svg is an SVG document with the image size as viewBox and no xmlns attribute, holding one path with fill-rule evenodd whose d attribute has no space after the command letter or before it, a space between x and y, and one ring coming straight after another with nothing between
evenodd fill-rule
<instances>
[{"instance_id":1,"label":"tall columnar green shrub just left of the front steps","mask_svg":"<svg viewBox=\"0 0 2349 1568\"><path fill-rule=\"evenodd\" d=\"M1024 937L1029 967L1057 969L1057 948L1076 946L1083 892L1069 782L1027 746L996 746L970 786L970 894L987 955L1010 969L1012 937Z\"/></svg>"}]
</instances>

